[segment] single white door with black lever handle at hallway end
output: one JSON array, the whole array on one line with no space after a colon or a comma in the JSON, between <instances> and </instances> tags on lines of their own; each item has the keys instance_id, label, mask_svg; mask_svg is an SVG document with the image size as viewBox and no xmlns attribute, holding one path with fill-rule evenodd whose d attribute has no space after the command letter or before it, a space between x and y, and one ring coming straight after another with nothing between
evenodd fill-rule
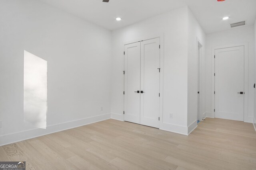
<instances>
[{"instance_id":1,"label":"single white door with black lever handle at hallway end","mask_svg":"<svg viewBox=\"0 0 256 170\"><path fill-rule=\"evenodd\" d=\"M215 117L244 121L244 46L215 50Z\"/></svg>"}]
</instances>

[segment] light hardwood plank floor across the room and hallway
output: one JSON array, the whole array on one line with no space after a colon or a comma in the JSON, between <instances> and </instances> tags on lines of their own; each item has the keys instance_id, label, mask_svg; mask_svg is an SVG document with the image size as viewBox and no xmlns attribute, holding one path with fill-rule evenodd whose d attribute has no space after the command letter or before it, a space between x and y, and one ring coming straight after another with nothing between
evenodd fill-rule
<instances>
[{"instance_id":1,"label":"light hardwood plank floor across the room and hallway","mask_svg":"<svg viewBox=\"0 0 256 170\"><path fill-rule=\"evenodd\" d=\"M207 118L189 135L113 119L0 147L27 169L255 170L251 123Z\"/></svg>"}]
</instances>

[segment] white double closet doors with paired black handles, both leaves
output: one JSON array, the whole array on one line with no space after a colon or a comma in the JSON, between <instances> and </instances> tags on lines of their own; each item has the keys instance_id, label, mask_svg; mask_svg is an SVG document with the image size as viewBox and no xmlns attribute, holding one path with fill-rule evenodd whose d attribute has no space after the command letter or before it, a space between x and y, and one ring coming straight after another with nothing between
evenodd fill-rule
<instances>
[{"instance_id":1,"label":"white double closet doors with paired black handles, both leaves","mask_svg":"<svg viewBox=\"0 0 256 170\"><path fill-rule=\"evenodd\" d=\"M160 38L124 45L124 121L159 128Z\"/></svg>"}]
</instances>

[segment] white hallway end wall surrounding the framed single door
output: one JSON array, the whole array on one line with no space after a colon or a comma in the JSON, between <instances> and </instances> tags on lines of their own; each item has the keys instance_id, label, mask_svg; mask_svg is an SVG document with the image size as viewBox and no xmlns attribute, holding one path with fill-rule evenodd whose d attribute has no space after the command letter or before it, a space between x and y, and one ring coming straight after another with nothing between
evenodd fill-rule
<instances>
[{"instance_id":1,"label":"white hallway end wall surrounding the framed single door","mask_svg":"<svg viewBox=\"0 0 256 170\"><path fill-rule=\"evenodd\" d=\"M205 84L206 84L206 112L208 116L213 116L212 108L212 48L223 45L233 45L238 43L248 43L249 53L249 75L248 75L248 115L246 122L252 122L254 113L254 27L238 27L217 33L206 35L206 60L205 60Z\"/></svg>"}]
</instances>

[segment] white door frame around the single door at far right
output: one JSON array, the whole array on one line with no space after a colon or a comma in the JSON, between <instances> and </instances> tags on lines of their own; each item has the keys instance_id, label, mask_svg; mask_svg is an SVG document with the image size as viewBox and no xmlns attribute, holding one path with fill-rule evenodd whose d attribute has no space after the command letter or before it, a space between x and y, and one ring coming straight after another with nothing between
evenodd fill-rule
<instances>
[{"instance_id":1,"label":"white door frame around the single door at far right","mask_svg":"<svg viewBox=\"0 0 256 170\"><path fill-rule=\"evenodd\" d=\"M214 76L214 72L215 72L215 59L214 59L214 55L215 55L215 50L216 49L225 49L225 48L230 48L230 47L239 47L239 46L244 46L244 122L248 121L248 66L249 66L249 62L248 62L248 43L238 43L238 44L231 44L231 45L222 45L222 46L217 46L217 47L213 47L212 48L212 115L211 117L215 118L215 112L214 112L214 108L215 108L215 95L214 95L214 91L215 91L215 76Z\"/></svg>"}]
</instances>

